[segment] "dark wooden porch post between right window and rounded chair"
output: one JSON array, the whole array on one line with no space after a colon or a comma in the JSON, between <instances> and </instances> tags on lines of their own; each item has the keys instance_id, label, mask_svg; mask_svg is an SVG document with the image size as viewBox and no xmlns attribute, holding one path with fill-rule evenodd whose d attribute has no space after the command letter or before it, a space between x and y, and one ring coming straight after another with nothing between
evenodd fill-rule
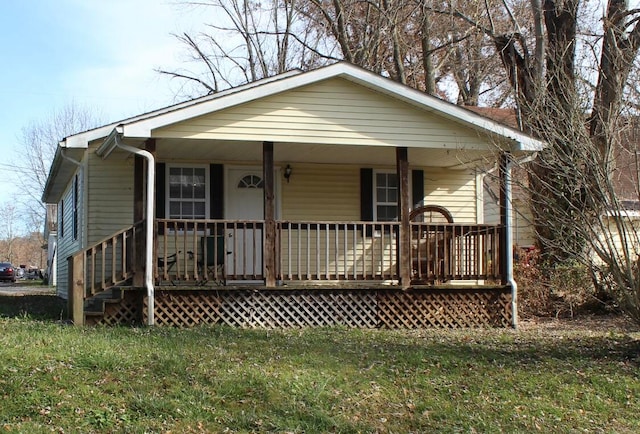
<instances>
[{"instance_id":1,"label":"dark wooden porch post between right window and rounded chair","mask_svg":"<svg viewBox=\"0 0 640 434\"><path fill-rule=\"evenodd\" d=\"M396 148L396 165L398 172L398 210L400 217L398 268L402 289L411 286L411 225L409 212L409 157L406 147Z\"/></svg>"}]
</instances>

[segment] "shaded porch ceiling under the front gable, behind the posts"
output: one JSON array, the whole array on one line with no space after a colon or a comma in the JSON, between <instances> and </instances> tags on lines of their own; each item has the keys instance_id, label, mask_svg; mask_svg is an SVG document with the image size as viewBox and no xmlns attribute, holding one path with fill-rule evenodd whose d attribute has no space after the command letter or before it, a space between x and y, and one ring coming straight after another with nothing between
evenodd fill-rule
<instances>
[{"instance_id":1,"label":"shaded porch ceiling under the front gable, behind the posts","mask_svg":"<svg viewBox=\"0 0 640 434\"><path fill-rule=\"evenodd\" d=\"M158 139L156 155L161 160L182 161L261 161L262 143L204 141L189 139ZM276 162L320 164L364 164L389 166L395 164L395 148L324 145L307 143L275 143ZM488 151L454 149L409 149L412 165L425 167L463 168L467 164L491 165L495 155Z\"/></svg>"}]
</instances>

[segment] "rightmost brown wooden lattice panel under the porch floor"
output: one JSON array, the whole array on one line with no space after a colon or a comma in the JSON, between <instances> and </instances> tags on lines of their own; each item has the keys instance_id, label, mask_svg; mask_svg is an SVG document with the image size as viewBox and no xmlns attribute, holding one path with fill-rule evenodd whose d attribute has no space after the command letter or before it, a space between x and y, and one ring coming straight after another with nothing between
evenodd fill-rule
<instances>
[{"instance_id":1,"label":"rightmost brown wooden lattice panel under the porch floor","mask_svg":"<svg viewBox=\"0 0 640 434\"><path fill-rule=\"evenodd\" d=\"M378 294L380 326L508 327L511 293L506 290L413 290Z\"/></svg>"}]
</instances>

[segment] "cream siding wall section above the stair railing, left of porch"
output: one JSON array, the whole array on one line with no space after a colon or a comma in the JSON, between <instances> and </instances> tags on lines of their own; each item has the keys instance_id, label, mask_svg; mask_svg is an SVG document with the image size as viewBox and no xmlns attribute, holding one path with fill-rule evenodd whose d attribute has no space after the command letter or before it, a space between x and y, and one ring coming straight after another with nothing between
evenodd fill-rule
<instances>
[{"instance_id":1,"label":"cream siding wall section above the stair railing, left of porch","mask_svg":"<svg viewBox=\"0 0 640 434\"><path fill-rule=\"evenodd\" d=\"M120 151L103 160L88 152L87 245L133 224L133 157ZM115 151L114 151L115 154Z\"/></svg>"}]
</instances>

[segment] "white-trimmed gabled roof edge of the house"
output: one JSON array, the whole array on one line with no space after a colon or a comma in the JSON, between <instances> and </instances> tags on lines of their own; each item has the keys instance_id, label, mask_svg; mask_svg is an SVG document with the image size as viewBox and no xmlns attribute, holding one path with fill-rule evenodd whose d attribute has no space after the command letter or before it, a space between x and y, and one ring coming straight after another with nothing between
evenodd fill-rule
<instances>
[{"instance_id":1,"label":"white-trimmed gabled roof edge of the house","mask_svg":"<svg viewBox=\"0 0 640 434\"><path fill-rule=\"evenodd\" d=\"M105 139L116 131L124 138L145 139L151 137L152 132L158 128L333 78L348 80L420 110L436 114L461 127L470 128L481 135L498 138L503 143L506 142L512 151L538 151L544 147L543 142L521 131L358 66L340 62L307 72L290 71L67 137L59 144L43 192L43 200L46 202L61 194L61 184L65 182L61 182L61 179L54 182L56 177L70 178L76 170L73 162L65 158L64 149L67 150L67 157L80 159L79 153L87 149L90 142L104 140L97 153L108 155L114 142Z\"/></svg>"}]
</instances>

